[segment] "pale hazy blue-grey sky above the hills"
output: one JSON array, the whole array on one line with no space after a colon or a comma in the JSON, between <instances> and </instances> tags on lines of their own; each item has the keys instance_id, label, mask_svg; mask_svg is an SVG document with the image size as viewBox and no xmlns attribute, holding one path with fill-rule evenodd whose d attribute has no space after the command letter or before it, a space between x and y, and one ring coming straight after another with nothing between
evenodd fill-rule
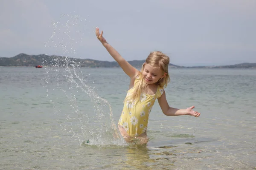
<instances>
[{"instance_id":1,"label":"pale hazy blue-grey sky above the hills","mask_svg":"<svg viewBox=\"0 0 256 170\"><path fill-rule=\"evenodd\" d=\"M162 51L183 66L256 63L256 0L1 0L0 57L114 61Z\"/></svg>"}]
</instances>

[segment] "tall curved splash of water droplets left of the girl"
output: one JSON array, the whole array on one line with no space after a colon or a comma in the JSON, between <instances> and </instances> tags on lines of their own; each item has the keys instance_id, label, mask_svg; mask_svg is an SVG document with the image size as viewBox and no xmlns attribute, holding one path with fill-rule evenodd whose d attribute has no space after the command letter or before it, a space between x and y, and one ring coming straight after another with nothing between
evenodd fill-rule
<instances>
[{"instance_id":1,"label":"tall curved splash of water droplets left of the girl","mask_svg":"<svg viewBox=\"0 0 256 170\"><path fill-rule=\"evenodd\" d=\"M55 54L61 56L44 58L43 64L49 66L45 78L47 96L59 116L59 125L70 138L90 145L124 145L110 103L89 85L94 80L81 67L82 60L69 57L76 54L76 47L85 37L86 22L69 14L61 14L60 21L52 22L53 33L45 46L55 48ZM88 100L91 105L84 107Z\"/></svg>"}]
</instances>

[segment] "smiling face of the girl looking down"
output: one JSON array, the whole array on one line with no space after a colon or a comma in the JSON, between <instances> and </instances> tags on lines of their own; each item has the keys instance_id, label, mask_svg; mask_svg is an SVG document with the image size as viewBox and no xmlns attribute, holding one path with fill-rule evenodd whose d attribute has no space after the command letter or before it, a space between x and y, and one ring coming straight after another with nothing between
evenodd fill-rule
<instances>
[{"instance_id":1,"label":"smiling face of the girl looking down","mask_svg":"<svg viewBox=\"0 0 256 170\"><path fill-rule=\"evenodd\" d=\"M160 78L165 77L166 73L163 73L159 67L152 67L149 64L145 64L142 75L145 82L151 85L158 82Z\"/></svg>"}]
</instances>

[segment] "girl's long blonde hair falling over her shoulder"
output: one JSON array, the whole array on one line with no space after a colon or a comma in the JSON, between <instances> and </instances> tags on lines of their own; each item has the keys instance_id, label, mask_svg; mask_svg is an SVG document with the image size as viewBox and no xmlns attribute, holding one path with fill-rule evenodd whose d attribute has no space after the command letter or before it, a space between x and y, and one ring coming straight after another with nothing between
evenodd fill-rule
<instances>
[{"instance_id":1,"label":"girl's long blonde hair falling over her shoulder","mask_svg":"<svg viewBox=\"0 0 256 170\"><path fill-rule=\"evenodd\" d=\"M130 94L127 94L127 96L125 97L125 102L136 103L140 99L141 92L148 87L148 84L145 82L142 75L145 64L149 64L152 67L159 67L163 71L163 73L166 73L165 77L159 79L157 82L157 85L162 88L166 88L168 82L170 81L170 77L168 74L169 62L169 57L163 54L161 51L151 52L146 58L145 63L142 65L140 72L136 75L136 77L139 77L139 81L134 85L134 90Z\"/></svg>"}]
</instances>

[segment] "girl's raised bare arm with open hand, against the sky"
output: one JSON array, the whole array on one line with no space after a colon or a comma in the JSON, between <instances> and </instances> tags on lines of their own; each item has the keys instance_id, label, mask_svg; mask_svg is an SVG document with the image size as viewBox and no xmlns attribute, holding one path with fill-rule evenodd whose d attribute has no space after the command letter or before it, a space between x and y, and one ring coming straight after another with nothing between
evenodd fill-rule
<instances>
[{"instance_id":1,"label":"girl's raised bare arm with open hand, against the sky","mask_svg":"<svg viewBox=\"0 0 256 170\"><path fill-rule=\"evenodd\" d=\"M95 32L99 41L107 49L108 53L113 57L113 59L115 59L116 62L120 65L125 74L127 74L131 79L134 78L137 75L138 70L134 68L129 62L127 62L111 45L108 44L108 42L102 36L103 31L101 31L99 34L99 28L96 28Z\"/></svg>"}]
</instances>

